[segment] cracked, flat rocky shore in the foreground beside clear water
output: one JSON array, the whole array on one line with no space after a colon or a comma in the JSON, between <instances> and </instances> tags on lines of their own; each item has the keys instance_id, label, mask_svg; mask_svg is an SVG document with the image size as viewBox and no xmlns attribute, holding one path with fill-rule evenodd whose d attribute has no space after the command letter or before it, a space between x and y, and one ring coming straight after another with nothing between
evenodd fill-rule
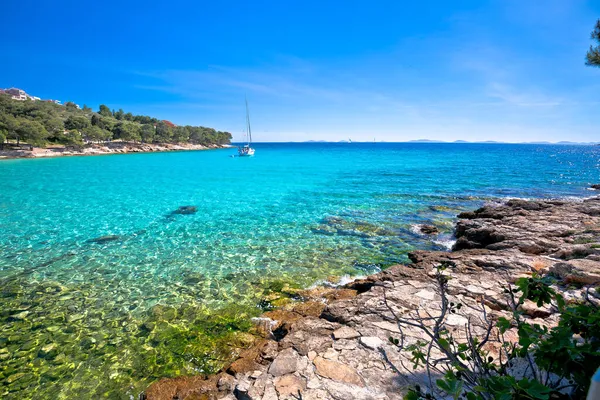
<instances>
[{"instance_id":1,"label":"cracked, flat rocky shore in the foreground beside clear water","mask_svg":"<svg viewBox=\"0 0 600 400\"><path fill-rule=\"evenodd\" d=\"M511 200L459 218L451 252L415 251L412 264L344 287L301 292L302 302L256 321L263 337L221 373L163 379L142 397L399 399L425 375L404 369L412 365L410 353L390 343L389 337L399 334L393 313L438 312L441 299L433 272L440 263L450 265L450 300L464 305L447 320L446 328L457 336L480 318L481 307L491 318L508 315L502 286L518 277L552 275L567 301L582 299L586 287L600 284L600 198ZM523 312L529 322L545 326L558 319L557 310L533 303L525 303ZM418 329L404 329L404 334L408 344L422 339ZM490 341L492 354L495 346Z\"/></svg>"}]
</instances>

